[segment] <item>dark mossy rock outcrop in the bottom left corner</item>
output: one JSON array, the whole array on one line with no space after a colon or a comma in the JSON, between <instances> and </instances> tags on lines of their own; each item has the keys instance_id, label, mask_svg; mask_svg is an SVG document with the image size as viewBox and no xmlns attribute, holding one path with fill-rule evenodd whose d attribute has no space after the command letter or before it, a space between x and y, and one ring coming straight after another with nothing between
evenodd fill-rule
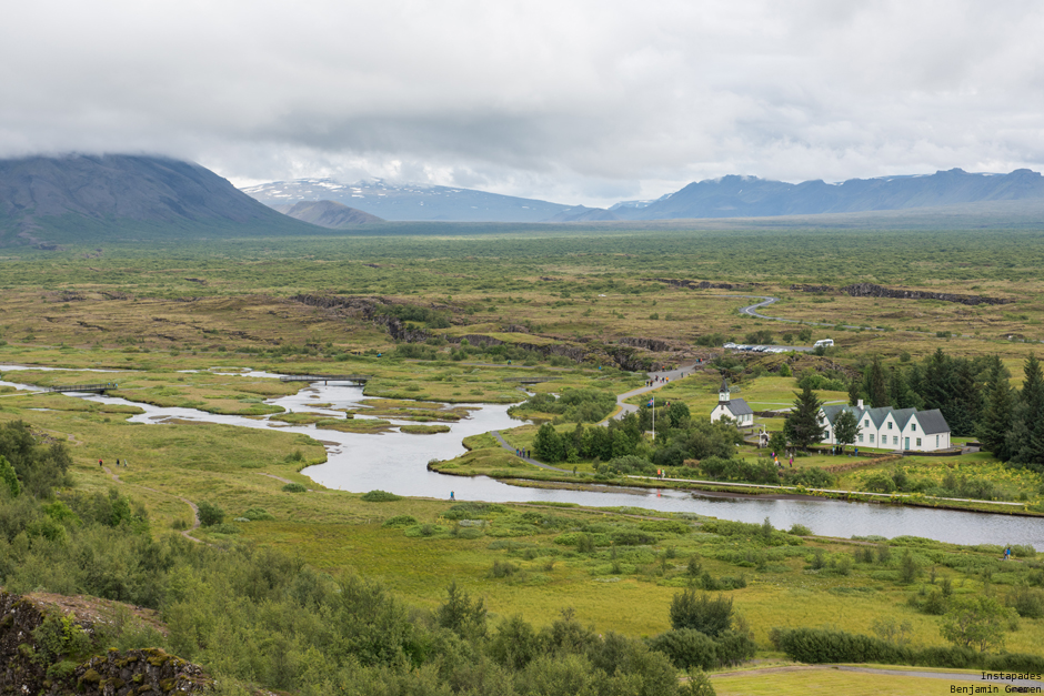
<instances>
[{"instance_id":1,"label":"dark mossy rock outcrop in the bottom left corner","mask_svg":"<svg viewBox=\"0 0 1044 696\"><path fill-rule=\"evenodd\" d=\"M213 687L202 668L159 648L107 650L101 642L89 621L0 592L0 694L167 696Z\"/></svg>"}]
</instances>

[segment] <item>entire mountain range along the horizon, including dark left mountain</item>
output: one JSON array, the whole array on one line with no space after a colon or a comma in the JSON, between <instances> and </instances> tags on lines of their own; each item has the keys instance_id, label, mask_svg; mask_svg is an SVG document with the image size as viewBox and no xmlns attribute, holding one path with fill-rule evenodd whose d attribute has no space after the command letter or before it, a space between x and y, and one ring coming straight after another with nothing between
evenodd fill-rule
<instances>
[{"instance_id":1,"label":"entire mountain range along the horizon, including dark left mountain","mask_svg":"<svg viewBox=\"0 0 1044 696\"><path fill-rule=\"evenodd\" d=\"M694 219L703 219L699 223L703 226L741 228L763 225L755 221L767 216L775 218L773 225L800 221L805 226L845 226L856 224L854 213L893 226L938 221L952 226L965 224L962 221L968 215L982 219L976 224L1008 219L1017 226L1038 226L1044 219L1044 178L1025 169L1010 174L953 169L840 184L723 176L691 183L653 201L624 201L609 210L380 180L342 184L305 179L244 191L199 164L162 157L70 154L0 160L0 245L53 249L101 240L315 235L330 233L323 228L369 224L388 229L405 224L411 233L428 229L411 224L414 221L455 222L465 228L475 222L513 223L503 229L522 231L540 222L693 226ZM474 229L485 228L470 228Z\"/></svg>"}]
</instances>

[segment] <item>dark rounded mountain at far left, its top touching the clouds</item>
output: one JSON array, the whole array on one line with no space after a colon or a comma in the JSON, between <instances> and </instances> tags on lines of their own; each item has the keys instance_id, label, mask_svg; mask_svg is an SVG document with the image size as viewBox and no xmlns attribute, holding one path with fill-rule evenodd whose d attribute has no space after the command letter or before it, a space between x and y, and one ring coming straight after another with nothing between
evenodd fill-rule
<instances>
[{"instance_id":1,"label":"dark rounded mountain at far left, its top touching the clouds","mask_svg":"<svg viewBox=\"0 0 1044 696\"><path fill-rule=\"evenodd\" d=\"M126 154L0 160L0 244L322 232L192 162Z\"/></svg>"}]
</instances>

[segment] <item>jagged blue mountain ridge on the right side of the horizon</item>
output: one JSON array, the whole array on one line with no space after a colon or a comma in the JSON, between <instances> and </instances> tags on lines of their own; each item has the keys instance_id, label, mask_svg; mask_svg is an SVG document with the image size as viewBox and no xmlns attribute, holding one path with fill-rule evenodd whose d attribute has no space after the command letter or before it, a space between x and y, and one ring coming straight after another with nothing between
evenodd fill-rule
<instances>
[{"instance_id":1,"label":"jagged blue mountain ridge on the right side of the horizon","mask_svg":"<svg viewBox=\"0 0 1044 696\"><path fill-rule=\"evenodd\" d=\"M799 184L756 176L722 176L691 183L651 203L629 201L610 210L626 220L763 218L945 208L988 201L1044 199L1044 178L1028 169L973 174L960 169L930 175L852 179L840 184Z\"/></svg>"}]
</instances>

